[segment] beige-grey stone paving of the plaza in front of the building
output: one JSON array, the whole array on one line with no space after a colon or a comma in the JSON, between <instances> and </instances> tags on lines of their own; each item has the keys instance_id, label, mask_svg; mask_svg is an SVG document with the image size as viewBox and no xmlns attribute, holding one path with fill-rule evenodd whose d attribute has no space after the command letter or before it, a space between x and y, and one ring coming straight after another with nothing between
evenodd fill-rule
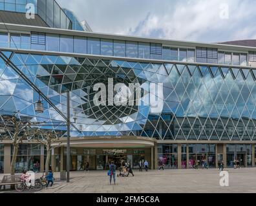
<instances>
[{"instance_id":1,"label":"beige-grey stone paving of the plaza in front of the building","mask_svg":"<svg viewBox=\"0 0 256 206\"><path fill-rule=\"evenodd\" d=\"M74 181L61 182L44 189L47 193L222 193L256 192L256 168L227 169L229 187L220 187L220 172L209 170L134 171L135 176L117 177L117 185L109 185L107 171L73 172Z\"/></svg>"}]
</instances>

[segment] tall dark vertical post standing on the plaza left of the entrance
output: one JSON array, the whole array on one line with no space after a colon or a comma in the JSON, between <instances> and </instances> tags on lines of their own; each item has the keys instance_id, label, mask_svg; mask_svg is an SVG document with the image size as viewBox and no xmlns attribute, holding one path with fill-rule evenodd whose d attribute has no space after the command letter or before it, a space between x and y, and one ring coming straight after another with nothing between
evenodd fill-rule
<instances>
[{"instance_id":1,"label":"tall dark vertical post standing on the plaza left of the entrance","mask_svg":"<svg viewBox=\"0 0 256 206\"><path fill-rule=\"evenodd\" d=\"M67 92L67 182L70 171L70 93Z\"/></svg>"}]
</instances>

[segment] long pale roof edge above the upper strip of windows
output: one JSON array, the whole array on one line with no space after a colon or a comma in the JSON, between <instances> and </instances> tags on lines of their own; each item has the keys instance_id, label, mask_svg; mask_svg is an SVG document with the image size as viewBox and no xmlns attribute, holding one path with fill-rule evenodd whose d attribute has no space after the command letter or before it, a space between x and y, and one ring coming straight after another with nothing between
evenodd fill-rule
<instances>
[{"instance_id":1,"label":"long pale roof edge above the upper strip of windows","mask_svg":"<svg viewBox=\"0 0 256 206\"><path fill-rule=\"evenodd\" d=\"M132 35L119 35L111 33L99 33L99 32L86 32L86 31L76 31L76 30L63 30L59 28L47 28L41 26L27 26L20 24L9 24L9 23L0 23L0 30L8 30L12 32L45 32L45 33L61 33L63 35L77 35L77 36L87 36L87 37L98 37L101 39L116 39L116 40L125 40L125 41L139 41L139 42L153 42L160 43L168 46L186 46L186 47L211 47L219 48L219 50L231 50L239 52L256 52L255 47L250 46L237 46L230 44L218 44L218 43L206 43L206 42L193 42L193 41L180 41L174 39L157 39L157 38L145 38L145 37L136 37Z\"/></svg>"}]
</instances>

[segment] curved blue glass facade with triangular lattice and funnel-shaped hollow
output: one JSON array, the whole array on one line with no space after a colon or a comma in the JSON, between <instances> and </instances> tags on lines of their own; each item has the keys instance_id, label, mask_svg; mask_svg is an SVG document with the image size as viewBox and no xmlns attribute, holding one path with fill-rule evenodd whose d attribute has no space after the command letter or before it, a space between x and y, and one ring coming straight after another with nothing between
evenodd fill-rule
<instances>
[{"instance_id":1,"label":"curved blue glass facade with triangular lattice and funnel-shaped hollow","mask_svg":"<svg viewBox=\"0 0 256 206\"><path fill-rule=\"evenodd\" d=\"M92 48L95 48L92 46ZM131 48L133 53L133 48ZM145 136L159 140L256 140L256 70L184 64L153 64L112 59L75 58L5 52L11 61L66 113L71 91L72 118L82 131L72 136ZM45 129L63 119L44 103L38 114L38 94L0 60L0 111L46 121ZM96 106L97 83L140 84L140 105ZM145 99L151 83L163 83L162 107L154 111ZM50 126L52 124L52 126Z\"/></svg>"}]
</instances>

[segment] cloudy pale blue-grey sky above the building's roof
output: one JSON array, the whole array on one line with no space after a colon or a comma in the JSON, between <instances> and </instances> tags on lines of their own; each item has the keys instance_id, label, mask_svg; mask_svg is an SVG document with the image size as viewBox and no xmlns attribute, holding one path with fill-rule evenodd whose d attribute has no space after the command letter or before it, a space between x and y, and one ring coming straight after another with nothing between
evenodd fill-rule
<instances>
[{"instance_id":1,"label":"cloudy pale blue-grey sky above the building's roof","mask_svg":"<svg viewBox=\"0 0 256 206\"><path fill-rule=\"evenodd\" d=\"M57 0L94 32L223 42L256 39L256 0Z\"/></svg>"}]
</instances>

